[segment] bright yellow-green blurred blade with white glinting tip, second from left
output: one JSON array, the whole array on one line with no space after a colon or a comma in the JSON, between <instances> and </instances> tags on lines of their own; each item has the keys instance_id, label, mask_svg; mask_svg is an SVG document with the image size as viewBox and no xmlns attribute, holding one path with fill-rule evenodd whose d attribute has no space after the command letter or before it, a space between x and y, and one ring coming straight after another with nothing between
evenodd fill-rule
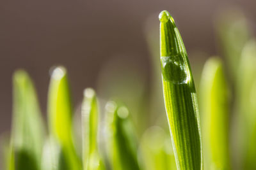
<instances>
[{"instance_id":1,"label":"bright yellow-green blurred blade with white glinting tip, second from left","mask_svg":"<svg viewBox=\"0 0 256 170\"><path fill-rule=\"evenodd\" d=\"M61 160L68 166L65 169L81 169L81 160L72 141L72 104L64 67L56 67L52 72L48 97L49 132L60 145Z\"/></svg>"}]
</instances>

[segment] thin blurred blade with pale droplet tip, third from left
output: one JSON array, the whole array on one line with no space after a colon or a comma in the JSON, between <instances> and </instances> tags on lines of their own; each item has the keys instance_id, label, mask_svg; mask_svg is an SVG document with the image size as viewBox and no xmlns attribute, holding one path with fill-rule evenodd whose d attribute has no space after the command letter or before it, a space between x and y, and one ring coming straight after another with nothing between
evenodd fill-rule
<instances>
[{"instance_id":1,"label":"thin blurred blade with pale droplet tip, third from left","mask_svg":"<svg viewBox=\"0 0 256 170\"><path fill-rule=\"evenodd\" d=\"M83 167L84 170L105 169L98 151L99 109L93 89L84 90L82 104Z\"/></svg>"}]
</instances>

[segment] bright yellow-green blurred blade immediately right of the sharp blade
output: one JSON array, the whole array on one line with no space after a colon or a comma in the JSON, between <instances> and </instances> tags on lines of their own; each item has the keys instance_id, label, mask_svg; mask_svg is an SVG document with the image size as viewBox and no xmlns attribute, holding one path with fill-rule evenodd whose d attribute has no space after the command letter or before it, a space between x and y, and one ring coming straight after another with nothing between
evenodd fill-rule
<instances>
[{"instance_id":1,"label":"bright yellow-green blurred blade immediately right of the sharp blade","mask_svg":"<svg viewBox=\"0 0 256 170\"><path fill-rule=\"evenodd\" d=\"M205 169L230 169L228 87L220 58L205 63L200 82Z\"/></svg>"}]
</instances>

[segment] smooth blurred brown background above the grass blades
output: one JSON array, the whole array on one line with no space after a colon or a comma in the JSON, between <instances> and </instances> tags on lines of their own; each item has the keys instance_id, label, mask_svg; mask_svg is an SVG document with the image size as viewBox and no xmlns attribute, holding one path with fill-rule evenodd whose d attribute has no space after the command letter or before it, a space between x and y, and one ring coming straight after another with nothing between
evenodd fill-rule
<instances>
[{"instance_id":1,"label":"smooth blurred brown background above the grass blades","mask_svg":"<svg viewBox=\"0 0 256 170\"><path fill-rule=\"evenodd\" d=\"M67 67L74 103L79 103L84 87L97 87L100 70L113 56L134 59L150 80L148 17L158 22L161 10L170 11L191 54L189 59L204 60L192 53L218 54L212 24L218 10L239 6L255 23L255 5L254 0L1 0L0 134L10 131L15 69L24 68L31 75L45 113L51 66Z\"/></svg>"}]
</instances>

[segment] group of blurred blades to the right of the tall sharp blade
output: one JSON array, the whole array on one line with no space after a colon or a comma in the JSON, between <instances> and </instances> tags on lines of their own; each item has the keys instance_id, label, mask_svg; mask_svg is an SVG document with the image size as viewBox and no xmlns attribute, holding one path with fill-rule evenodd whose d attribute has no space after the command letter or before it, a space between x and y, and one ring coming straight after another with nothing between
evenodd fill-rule
<instances>
[{"instance_id":1,"label":"group of blurred blades to the right of the tall sharp blade","mask_svg":"<svg viewBox=\"0 0 256 170\"><path fill-rule=\"evenodd\" d=\"M255 169L256 43L243 13L216 20L225 62L211 57L200 82L205 169ZM227 77L228 75L228 77Z\"/></svg>"}]
</instances>

